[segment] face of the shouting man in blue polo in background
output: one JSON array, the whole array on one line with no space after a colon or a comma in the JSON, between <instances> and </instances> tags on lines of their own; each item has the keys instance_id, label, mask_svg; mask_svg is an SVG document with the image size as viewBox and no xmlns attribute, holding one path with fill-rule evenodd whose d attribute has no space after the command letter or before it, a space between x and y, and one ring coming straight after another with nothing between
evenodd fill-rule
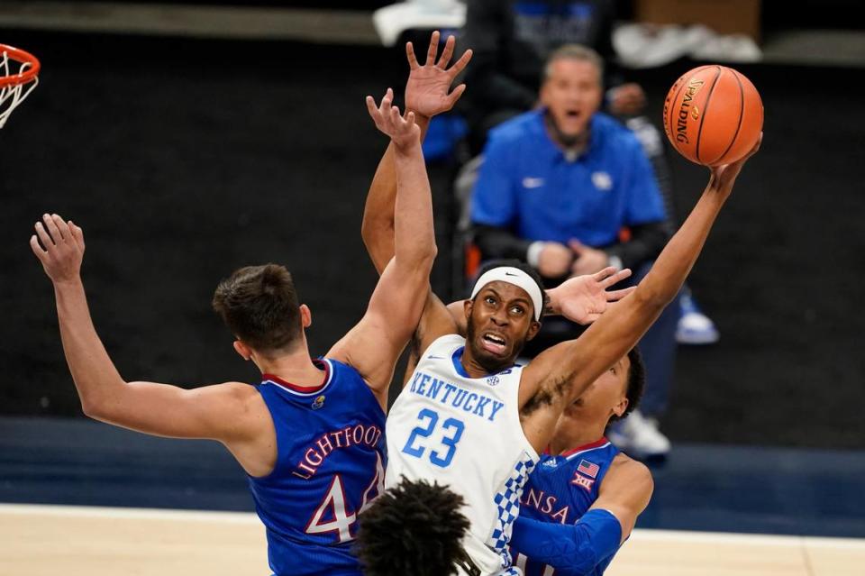
<instances>
[{"instance_id":1,"label":"face of the shouting man in blue polo in background","mask_svg":"<svg viewBox=\"0 0 865 576\"><path fill-rule=\"evenodd\" d=\"M586 60L557 59L541 88L541 102L560 133L573 138L584 133L601 105L601 80L595 65Z\"/></svg>"}]
</instances>

